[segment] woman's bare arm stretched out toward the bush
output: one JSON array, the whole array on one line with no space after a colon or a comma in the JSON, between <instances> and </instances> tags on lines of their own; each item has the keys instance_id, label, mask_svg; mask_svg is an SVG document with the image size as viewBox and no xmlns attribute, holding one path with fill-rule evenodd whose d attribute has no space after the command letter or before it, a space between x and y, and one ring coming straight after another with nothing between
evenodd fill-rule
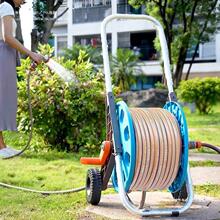
<instances>
[{"instance_id":1,"label":"woman's bare arm stretched out toward the bush","mask_svg":"<svg viewBox=\"0 0 220 220\"><path fill-rule=\"evenodd\" d=\"M27 54L32 60L36 63L41 63L44 60L44 57L40 54L34 53L24 47L14 36L13 36L13 17L12 16L4 16L2 18L2 37L5 43L9 46L15 48L19 52L23 54Z\"/></svg>"}]
</instances>

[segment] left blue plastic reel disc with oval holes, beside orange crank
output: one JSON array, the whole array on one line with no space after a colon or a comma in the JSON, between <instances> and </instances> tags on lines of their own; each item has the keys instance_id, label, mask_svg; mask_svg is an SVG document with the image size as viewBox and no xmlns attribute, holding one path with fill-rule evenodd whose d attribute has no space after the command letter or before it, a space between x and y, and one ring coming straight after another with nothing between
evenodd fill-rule
<instances>
[{"instance_id":1,"label":"left blue plastic reel disc with oval holes, beside orange crank","mask_svg":"<svg viewBox=\"0 0 220 220\"><path fill-rule=\"evenodd\" d=\"M119 122L120 137L122 143L122 173L125 191L128 192L131 186L135 163L136 163L136 141L133 127L133 121L125 102L120 101L116 105L116 111ZM112 173L112 183L116 191L118 191L118 182L116 169Z\"/></svg>"}]
</instances>

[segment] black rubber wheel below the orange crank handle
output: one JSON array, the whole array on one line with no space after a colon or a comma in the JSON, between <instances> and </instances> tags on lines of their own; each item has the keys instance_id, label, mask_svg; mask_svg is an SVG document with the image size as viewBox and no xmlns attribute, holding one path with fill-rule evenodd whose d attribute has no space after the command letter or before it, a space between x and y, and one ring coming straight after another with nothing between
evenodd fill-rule
<instances>
[{"instance_id":1,"label":"black rubber wheel below the orange crank handle","mask_svg":"<svg viewBox=\"0 0 220 220\"><path fill-rule=\"evenodd\" d=\"M101 199L102 179L98 169L89 169L86 177L86 200L92 205L98 205Z\"/></svg>"}]
</instances>

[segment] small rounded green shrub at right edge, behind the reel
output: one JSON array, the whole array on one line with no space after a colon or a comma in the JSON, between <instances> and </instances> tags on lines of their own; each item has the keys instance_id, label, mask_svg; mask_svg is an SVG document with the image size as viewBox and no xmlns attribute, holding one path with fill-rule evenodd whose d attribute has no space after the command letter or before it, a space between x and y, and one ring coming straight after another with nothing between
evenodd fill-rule
<instances>
[{"instance_id":1,"label":"small rounded green shrub at right edge, behind the reel","mask_svg":"<svg viewBox=\"0 0 220 220\"><path fill-rule=\"evenodd\" d=\"M194 102L200 113L208 114L220 101L220 78L195 78L182 81L177 89L184 102Z\"/></svg>"}]
</instances>

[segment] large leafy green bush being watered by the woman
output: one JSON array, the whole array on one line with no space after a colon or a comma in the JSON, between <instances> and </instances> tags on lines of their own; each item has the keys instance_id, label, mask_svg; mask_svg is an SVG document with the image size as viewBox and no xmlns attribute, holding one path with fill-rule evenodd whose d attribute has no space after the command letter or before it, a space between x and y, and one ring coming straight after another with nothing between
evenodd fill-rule
<instances>
[{"instance_id":1,"label":"large leafy green bush being watered by the woman","mask_svg":"<svg viewBox=\"0 0 220 220\"><path fill-rule=\"evenodd\" d=\"M42 50L47 51L46 46ZM44 54L45 54L44 51ZM51 52L51 51L50 51ZM31 104L34 130L44 137L51 148L78 151L97 150L105 136L105 104L103 74L94 72L86 60L87 54L80 51L77 61L60 59L66 68L73 70L79 83L67 84L53 74L45 64L31 74ZM22 60L18 70L26 78L30 60ZM26 81L18 83L19 129L28 130L28 99Z\"/></svg>"}]
</instances>

